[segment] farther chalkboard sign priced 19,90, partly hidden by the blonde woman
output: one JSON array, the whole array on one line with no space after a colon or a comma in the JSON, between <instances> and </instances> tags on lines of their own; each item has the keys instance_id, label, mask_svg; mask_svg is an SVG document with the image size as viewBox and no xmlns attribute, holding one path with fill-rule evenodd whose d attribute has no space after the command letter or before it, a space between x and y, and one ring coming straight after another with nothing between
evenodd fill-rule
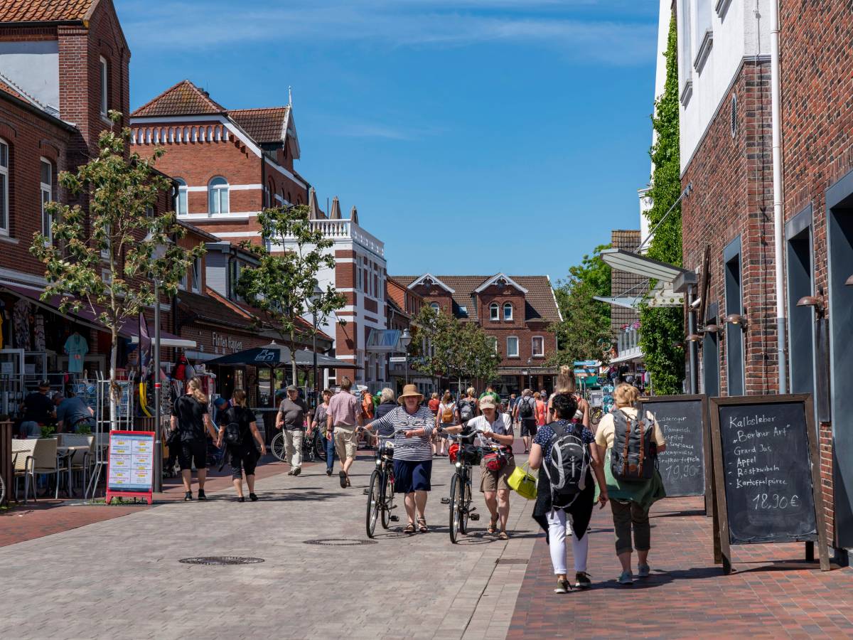
<instances>
[{"instance_id":1,"label":"farther chalkboard sign priced 19,90, partly hidden by the blonde woman","mask_svg":"<svg viewBox=\"0 0 853 640\"><path fill-rule=\"evenodd\" d=\"M641 404L658 421L666 440L658 457L666 495L704 496L705 451L710 447L705 396L654 396L641 399Z\"/></svg>"}]
</instances>

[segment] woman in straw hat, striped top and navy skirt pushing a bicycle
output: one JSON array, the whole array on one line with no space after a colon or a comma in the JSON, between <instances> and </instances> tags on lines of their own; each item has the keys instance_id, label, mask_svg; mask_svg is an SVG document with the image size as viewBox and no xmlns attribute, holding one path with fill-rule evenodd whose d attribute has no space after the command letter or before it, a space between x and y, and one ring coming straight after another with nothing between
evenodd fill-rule
<instances>
[{"instance_id":1,"label":"woman in straw hat, striped top and navy skirt pushing a bicycle","mask_svg":"<svg viewBox=\"0 0 853 640\"><path fill-rule=\"evenodd\" d=\"M409 522L405 533L415 532L415 518L421 533L427 529L427 492L432 488L432 447L430 437L435 426L435 416L421 406L423 396L415 385L403 387L398 399L401 406L385 416L370 422L365 428L394 430L394 488L405 494L406 515Z\"/></svg>"}]
</instances>

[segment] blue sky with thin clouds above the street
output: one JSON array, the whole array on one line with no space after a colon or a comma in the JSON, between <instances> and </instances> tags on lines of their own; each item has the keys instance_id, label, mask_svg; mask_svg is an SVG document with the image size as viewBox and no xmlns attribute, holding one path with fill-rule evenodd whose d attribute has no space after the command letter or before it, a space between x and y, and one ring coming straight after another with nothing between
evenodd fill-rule
<instances>
[{"instance_id":1,"label":"blue sky with thin clouds above the street","mask_svg":"<svg viewBox=\"0 0 853 640\"><path fill-rule=\"evenodd\" d=\"M388 271L566 276L639 226L654 0L115 0L131 107L182 79L287 103L299 172Z\"/></svg>"}]
</instances>

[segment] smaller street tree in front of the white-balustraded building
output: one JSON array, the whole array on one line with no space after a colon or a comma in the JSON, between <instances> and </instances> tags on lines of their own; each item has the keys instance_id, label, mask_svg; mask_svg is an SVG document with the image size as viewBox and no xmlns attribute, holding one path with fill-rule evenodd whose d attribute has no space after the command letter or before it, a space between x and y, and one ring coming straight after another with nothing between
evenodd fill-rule
<instances>
[{"instance_id":1,"label":"smaller street tree in front of the white-balustraded building","mask_svg":"<svg viewBox=\"0 0 853 640\"><path fill-rule=\"evenodd\" d=\"M237 293L266 312L266 324L281 336L293 354L297 335L306 332L300 321L303 314L316 316L317 325L322 326L330 314L346 304L345 297L332 284L315 295L320 270L334 270L334 255L327 252L334 241L310 224L309 213L305 205L273 207L260 212L258 224L263 244L244 245L258 258L259 264L241 271L237 283ZM273 247L279 247L279 251L272 253ZM296 384L295 356L291 373Z\"/></svg>"}]
</instances>

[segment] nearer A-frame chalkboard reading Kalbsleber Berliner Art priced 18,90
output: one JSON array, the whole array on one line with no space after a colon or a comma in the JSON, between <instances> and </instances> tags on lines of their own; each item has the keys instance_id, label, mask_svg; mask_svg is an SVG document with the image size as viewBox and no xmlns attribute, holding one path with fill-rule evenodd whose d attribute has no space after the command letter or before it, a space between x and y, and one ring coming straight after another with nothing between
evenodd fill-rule
<instances>
[{"instance_id":1,"label":"nearer A-frame chalkboard reading Kalbsleber Berliner Art priced 18,90","mask_svg":"<svg viewBox=\"0 0 853 640\"><path fill-rule=\"evenodd\" d=\"M711 399L716 532L722 566L731 544L818 544L829 570L811 395ZM715 519L716 520L716 519Z\"/></svg>"}]
</instances>

